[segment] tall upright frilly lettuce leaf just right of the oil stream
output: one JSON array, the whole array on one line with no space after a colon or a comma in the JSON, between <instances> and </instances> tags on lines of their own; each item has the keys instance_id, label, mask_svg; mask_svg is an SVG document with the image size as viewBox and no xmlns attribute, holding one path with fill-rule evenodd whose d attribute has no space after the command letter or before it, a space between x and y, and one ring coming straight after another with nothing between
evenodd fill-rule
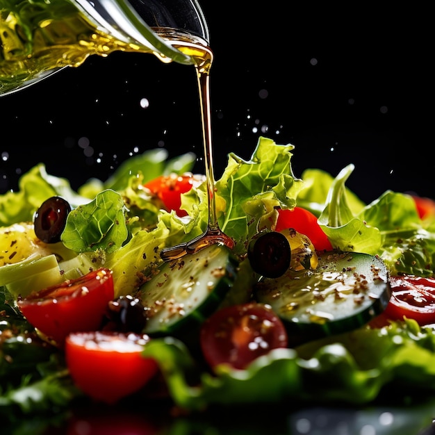
<instances>
[{"instance_id":1,"label":"tall upright frilly lettuce leaf just right of the oil stream","mask_svg":"<svg viewBox=\"0 0 435 435\"><path fill-rule=\"evenodd\" d=\"M293 145L259 138L249 161L229 154L226 170L216 183L220 227L236 241L236 251L264 227L277 220L277 206L295 206L303 182L290 165Z\"/></svg>"}]
</instances>

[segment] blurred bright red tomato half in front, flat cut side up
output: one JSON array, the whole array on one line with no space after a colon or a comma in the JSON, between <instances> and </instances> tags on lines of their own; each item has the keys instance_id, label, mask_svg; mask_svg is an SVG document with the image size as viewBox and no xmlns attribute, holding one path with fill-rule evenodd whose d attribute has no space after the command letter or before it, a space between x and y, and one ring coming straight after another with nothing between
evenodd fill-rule
<instances>
[{"instance_id":1,"label":"blurred bright red tomato half in front, flat cut side up","mask_svg":"<svg viewBox=\"0 0 435 435\"><path fill-rule=\"evenodd\" d=\"M83 393L115 404L139 391L158 366L141 353L149 336L115 331L76 332L65 340L69 373Z\"/></svg>"}]
</instances>

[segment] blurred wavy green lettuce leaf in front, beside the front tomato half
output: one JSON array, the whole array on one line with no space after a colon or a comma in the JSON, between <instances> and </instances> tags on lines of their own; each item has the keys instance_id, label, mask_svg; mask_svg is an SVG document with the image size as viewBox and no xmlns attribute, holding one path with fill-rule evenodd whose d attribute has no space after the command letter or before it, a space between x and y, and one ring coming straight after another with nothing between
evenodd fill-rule
<instances>
[{"instance_id":1,"label":"blurred wavy green lettuce leaf in front, beside the front tomato half","mask_svg":"<svg viewBox=\"0 0 435 435\"><path fill-rule=\"evenodd\" d=\"M274 350L252 363L248 370L222 366L217 377L202 372L199 384L195 385L188 379L197 367L181 341L155 338L147 343L142 354L156 359L172 399L183 409L201 411L211 404L277 402L288 397L289 386L293 393L300 388L295 351L291 349Z\"/></svg>"}]
</instances>

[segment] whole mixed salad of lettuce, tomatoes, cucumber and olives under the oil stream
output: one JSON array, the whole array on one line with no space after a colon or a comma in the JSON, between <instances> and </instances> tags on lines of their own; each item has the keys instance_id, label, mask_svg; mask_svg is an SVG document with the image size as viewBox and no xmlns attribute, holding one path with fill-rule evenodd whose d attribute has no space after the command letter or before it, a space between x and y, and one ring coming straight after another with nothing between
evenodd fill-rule
<instances>
[{"instance_id":1,"label":"whole mixed salad of lettuce, tomatoes, cucumber and olives under the oil stream","mask_svg":"<svg viewBox=\"0 0 435 435\"><path fill-rule=\"evenodd\" d=\"M77 191L42 163L24 174L0 197L3 424L131 397L181 413L432 397L434 202L364 204L353 165L299 178L293 149L229 154L215 203L234 247L166 262L207 229L194 155L146 151Z\"/></svg>"}]
</instances>

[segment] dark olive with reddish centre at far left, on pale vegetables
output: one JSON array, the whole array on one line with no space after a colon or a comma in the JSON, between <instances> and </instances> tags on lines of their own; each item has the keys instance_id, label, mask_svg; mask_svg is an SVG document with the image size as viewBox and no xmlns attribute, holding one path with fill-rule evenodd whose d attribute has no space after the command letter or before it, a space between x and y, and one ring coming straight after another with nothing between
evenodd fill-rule
<instances>
[{"instance_id":1,"label":"dark olive with reddish centre at far left, on pale vegetables","mask_svg":"<svg viewBox=\"0 0 435 435\"><path fill-rule=\"evenodd\" d=\"M71 211L69 202L61 197L46 199L33 217L35 234L44 243L57 243Z\"/></svg>"}]
</instances>

